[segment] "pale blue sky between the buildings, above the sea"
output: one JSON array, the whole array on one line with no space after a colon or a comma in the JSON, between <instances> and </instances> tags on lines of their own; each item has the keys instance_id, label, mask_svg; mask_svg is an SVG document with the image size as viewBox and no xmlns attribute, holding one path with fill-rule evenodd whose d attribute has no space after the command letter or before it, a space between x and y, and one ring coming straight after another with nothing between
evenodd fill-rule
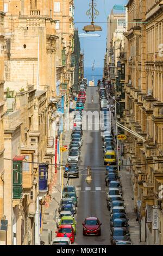
<instances>
[{"instance_id":1,"label":"pale blue sky between the buildings, above the sea","mask_svg":"<svg viewBox=\"0 0 163 256\"><path fill-rule=\"evenodd\" d=\"M87 23L78 23L78 22L88 22L90 23L90 19L86 16L86 11L90 8L89 3L91 0L74 0L74 27L78 28L79 33L84 33L83 27L87 25ZM126 4L128 0L94 0L97 4L96 9L99 11L99 16L96 17L95 22L97 25L101 26L103 31L97 32L100 34L100 37L95 38L80 38L80 47L81 50L84 50L85 54L85 67L90 67L93 64L93 60L95 59L95 68L103 68L104 66L104 56L106 51L106 22L107 17L110 14L112 7L115 4ZM96 23L95 23L96 25ZM89 34L89 33L87 33Z\"/></svg>"}]
</instances>

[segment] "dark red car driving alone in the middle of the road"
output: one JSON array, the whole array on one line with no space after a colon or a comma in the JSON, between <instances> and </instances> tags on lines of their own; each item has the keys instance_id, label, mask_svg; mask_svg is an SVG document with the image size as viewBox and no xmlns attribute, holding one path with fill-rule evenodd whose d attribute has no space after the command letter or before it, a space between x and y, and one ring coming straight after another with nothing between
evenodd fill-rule
<instances>
[{"instance_id":1,"label":"dark red car driving alone in the middle of the road","mask_svg":"<svg viewBox=\"0 0 163 256\"><path fill-rule=\"evenodd\" d=\"M101 235L102 223L96 217L85 218L83 225L83 235Z\"/></svg>"}]
</instances>

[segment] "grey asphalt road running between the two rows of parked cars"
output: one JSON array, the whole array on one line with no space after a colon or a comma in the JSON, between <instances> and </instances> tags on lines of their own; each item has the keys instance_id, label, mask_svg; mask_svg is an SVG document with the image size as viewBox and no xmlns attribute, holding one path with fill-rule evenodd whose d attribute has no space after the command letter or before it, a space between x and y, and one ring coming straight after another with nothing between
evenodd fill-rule
<instances>
[{"instance_id":1,"label":"grey asphalt road running between the two rows of parked cars","mask_svg":"<svg viewBox=\"0 0 163 256\"><path fill-rule=\"evenodd\" d=\"M91 97L93 95L93 103ZM99 111L97 87L88 87L85 109ZM70 179L70 184L77 188L77 235L74 245L110 245L110 215L106 208L105 168L92 167L92 182L85 181L87 170L82 166L104 166L101 131L88 130L83 132L83 146L78 162L79 179ZM85 170L84 170L85 169ZM83 221L85 217L98 217L102 223L101 236L83 236Z\"/></svg>"}]
</instances>

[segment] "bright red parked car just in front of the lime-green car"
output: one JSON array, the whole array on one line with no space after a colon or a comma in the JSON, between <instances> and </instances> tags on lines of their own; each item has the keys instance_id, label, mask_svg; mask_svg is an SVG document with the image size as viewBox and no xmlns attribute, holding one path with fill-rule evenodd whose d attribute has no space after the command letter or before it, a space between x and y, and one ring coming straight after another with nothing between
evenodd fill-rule
<instances>
[{"instance_id":1,"label":"bright red parked car just in front of the lime-green car","mask_svg":"<svg viewBox=\"0 0 163 256\"><path fill-rule=\"evenodd\" d=\"M57 233L56 237L67 236L70 238L71 243L74 242L74 230L72 225L59 225L59 228L55 233Z\"/></svg>"}]
</instances>

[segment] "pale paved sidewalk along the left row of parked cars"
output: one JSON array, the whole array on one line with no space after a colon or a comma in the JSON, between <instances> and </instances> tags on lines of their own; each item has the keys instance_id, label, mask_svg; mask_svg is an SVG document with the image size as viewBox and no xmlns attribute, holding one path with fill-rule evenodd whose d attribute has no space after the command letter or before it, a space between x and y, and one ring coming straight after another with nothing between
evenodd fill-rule
<instances>
[{"instance_id":1,"label":"pale paved sidewalk along the left row of parked cars","mask_svg":"<svg viewBox=\"0 0 163 256\"><path fill-rule=\"evenodd\" d=\"M76 105L76 102L73 102L72 108L74 108L75 105ZM73 112L70 113L70 121L72 119L73 119ZM64 165L67 163L67 154L68 154L68 147L70 144L70 136L71 136L70 129L62 133L62 145L67 145L67 150L65 152L62 152L62 164ZM63 168L63 172L64 172L64 168ZM45 242L45 245L49 245L49 240L51 240L51 238L49 239L49 237L51 237L50 234L52 234L52 241L56 236L55 231L57 230L57 227L56 227L55 217L58 216L58 207L61 199L60 168L57 168L57 179L52 188L51 197L52 197L51 203L49 204L49 208L47 208L45 211L45 218L42 223L41 240Z\"/></svg>"}]
</instances>

